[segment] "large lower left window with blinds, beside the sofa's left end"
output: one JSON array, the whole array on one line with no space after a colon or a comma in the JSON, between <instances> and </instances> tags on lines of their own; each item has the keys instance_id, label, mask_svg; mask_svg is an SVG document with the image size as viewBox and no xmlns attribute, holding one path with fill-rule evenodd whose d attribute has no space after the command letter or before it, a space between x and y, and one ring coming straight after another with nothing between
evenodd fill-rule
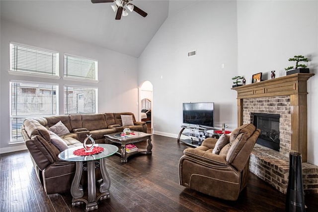
<instances>
[{"instance_id":1,"label":"large lower left window with blinds, beside the sofa's left end","mask_svg":"<svg viewBox=\"0 0 318 212\"><path fill-rule=\"evenodd\" d=\"M10 82L11 142L23 141L25 118L58 114L58 86Z\"/></svg>"}]
</instances>

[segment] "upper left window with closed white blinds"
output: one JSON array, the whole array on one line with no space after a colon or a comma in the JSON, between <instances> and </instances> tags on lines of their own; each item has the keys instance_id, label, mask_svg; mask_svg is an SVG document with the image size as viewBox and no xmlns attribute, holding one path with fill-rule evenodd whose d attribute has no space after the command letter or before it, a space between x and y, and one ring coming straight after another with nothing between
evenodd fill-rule
<instances>
[{"instance_id":1,"label":"upper left window with closed white blinds","mask_svg":"<svg viewBox=\"0 0 318 212\"><path fill-rule=\"evenodd\" d=\"M10 43L10 71L59 76L59 53Z\"/></svg>"}]
</instances>

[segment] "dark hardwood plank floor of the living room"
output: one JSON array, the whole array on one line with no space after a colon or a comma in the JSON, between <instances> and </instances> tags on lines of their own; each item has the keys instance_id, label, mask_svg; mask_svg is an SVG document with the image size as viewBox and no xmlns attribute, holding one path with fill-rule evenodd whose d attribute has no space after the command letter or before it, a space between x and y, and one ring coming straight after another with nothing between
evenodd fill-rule
<instances>
[{"instance_id":1,"label":"dark hardwood plank floor of the living room","mask_svg":"<svg viewBox=\"0 0 318 212\"><path fill-rule=\"evenodd\" d=\"M178 185L178 161L186 145L175 138L153 135L153 154L107 158L110 199L97 212L283 212L286 196L253 174L239 200L223 201ZM142 143L146 146L146 143ZM0 212L83 212L72 208L70 193L46 195L28 151L1 154ZM204 183L204 182L202 182ZM213 188L211 188L213 189ZM306 194L308 212L318 209L318 195Z\"/></svg>"}]
</instances>

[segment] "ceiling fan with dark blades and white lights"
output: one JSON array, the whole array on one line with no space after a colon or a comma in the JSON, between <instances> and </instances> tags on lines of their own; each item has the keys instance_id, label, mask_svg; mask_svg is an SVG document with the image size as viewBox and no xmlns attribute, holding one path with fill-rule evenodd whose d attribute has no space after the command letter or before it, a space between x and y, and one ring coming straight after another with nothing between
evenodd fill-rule
<instances>
[{"instance_id":1,"label":"ceiling fan with dark blades and white lights","mask_svg":"<svg viewBox=\"0 0 318 212\"><path fill-rule=\"evenodd\" d=\"M130 3L132 0L91 0L92 3L106 3L106 2L114 2L114 5L111 5L114 12L116 13L116 20L120 20L121 16L127 16L128 12L126 8L129 9L131 12L135 11L143 17L146 17L148 14L144 10L138 8L134 4Z\"/></svg>"}]
</instances>

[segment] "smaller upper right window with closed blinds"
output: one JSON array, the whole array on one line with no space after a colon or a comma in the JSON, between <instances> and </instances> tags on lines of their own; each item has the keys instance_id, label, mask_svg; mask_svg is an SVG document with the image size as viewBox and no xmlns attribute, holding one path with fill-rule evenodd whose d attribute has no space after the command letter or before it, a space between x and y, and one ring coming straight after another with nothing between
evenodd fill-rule
<instances>
[{"instance_id":1,"label":"smaller upper right window with closed blinds","mask_svg":"<svg viewBox=\"0 0 318 212\"><path fill-rule=\"evenodd\" d=\"M97 81L97 66L97 61L64 55L64 77Z\"/></svg>"}]
</instances>

